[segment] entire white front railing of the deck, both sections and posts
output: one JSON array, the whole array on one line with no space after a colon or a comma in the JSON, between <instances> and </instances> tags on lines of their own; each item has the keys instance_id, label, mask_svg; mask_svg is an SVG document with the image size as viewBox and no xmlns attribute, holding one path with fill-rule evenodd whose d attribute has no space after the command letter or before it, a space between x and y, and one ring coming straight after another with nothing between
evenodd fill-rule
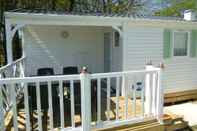
<instances>
[{"instance_id":1,"label":"entire white front railing of the deck, both sections and posts","mask_svg":"<svg viewBox=\"0 0 197 131\"><path fill-rule=\"evenodd\" d=\"M124 124L132 124L143 121L145 118L161 120L163 110L163 92L161 88L161 70L159 68L147 68L140 71L125 71L114 73L99 73L88 74L83 72L80 75L62 75L62 76L42 76L42 77L24 77L24 78L7 78L0 80L0 98L2 96L2 88L4 85L9 85L11 92L11 100L13 103L13 126L18 130L18 112L16 102L16 92L14 87L17 84L23 84L23 103L25 110L25 129L32 130L32 122L30 116L30 103L29 89L35 90L36 94L36 117L38 120L38 130L42 131L43 128L43 109L42 109L42 92L41 88L46 89L48 94L48 117L49 127L53 130L59 129L79 129L83 131L90 131L91 129L104 129ZM140 93L136 83L141 82ZM58 90L59 104L54 103L54 89ZM79 98L76 90L80 89L80 106L76 106L76 99ZM69 98L65 97L65 90L69 92ZM93 91L92 91L93 90ZM122 91L121 91L122 90ZM32 91L32 90L31 90ZM123 93L123 91L125 91ZM124 94L124 104L120 105L120 96ZM131 95L132 94L132 95ZM103 105L103 95L106 98L106 105ZM115 98L115 107L111 107L111 98ZM65 99L68 99L70 104L70 111L66 111ZM94 101L96 99L96 102ZM132 102L133 115L129 115L129 102ZM136 101L140 100L141 112L137 113ZM0 99L0 108L4 100ZM106 119L102 118L103 106L106 106ZM121 116L120 106L124 106L124 115ZM96 107L96 119L92 119L93 108ZM80 108L81 124L76 124L76 110ZM57 116L57 109L60 112L59 125L54 125ZM147 110L148 109L148 110ZM115 118L111 118L110 112L114 110ZM70 118L68 117L70 114ZM67 115L65 115L67 114ZM80 113L79 113L80 114ZM5 117L2 117L3 119ZM70 120L71 124L66 124ZM2 120L1 122L4 122ZM1 129L5 129L4 123L1 123Z\"/></svg>"}]
</instances>

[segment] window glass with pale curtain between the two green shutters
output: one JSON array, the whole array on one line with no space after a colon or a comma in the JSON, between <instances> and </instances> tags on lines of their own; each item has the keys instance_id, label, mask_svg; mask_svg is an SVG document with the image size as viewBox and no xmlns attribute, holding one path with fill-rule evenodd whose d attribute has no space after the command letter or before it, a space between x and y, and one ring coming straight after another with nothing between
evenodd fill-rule
<instances>
[{"instance_id":1,"label":"window glass with pale curtain between the two green shutters","mask_svg":"<svg viewBox=\"0 0 197 131\"><path fill-rule=\"evenodd\" d=\"M185 31L175 31L173 35L173 56L187 56L189 33Z\"/></svg>"}]
</instances>

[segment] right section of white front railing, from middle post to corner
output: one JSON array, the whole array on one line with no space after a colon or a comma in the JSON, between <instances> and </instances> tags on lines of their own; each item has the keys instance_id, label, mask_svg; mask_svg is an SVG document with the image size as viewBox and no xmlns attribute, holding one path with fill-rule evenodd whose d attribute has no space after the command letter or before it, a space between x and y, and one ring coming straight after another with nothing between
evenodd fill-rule
<instances>
[{"instance_id":1,"label":"right section of white front railing, from middle post to corner","mask_svg":"<svg viewBox=\"0 0 197 131\"><path fill-rule=\"evenodd\" d=\"M147 66L146 70L140 71L91 74L90 79L97 80L97 120L96 124L94 124L92 128L105 129L121 126L124 124L132 124L144 121L145 118L155 118L159 121L162 120L161 117L163 115L163 90L161 88L160 68ZM106 83L106 87L101 87L102 81ZM139 90L139 85L137 85L137 83L141 83L141 89L140 91L138 91L138 94L137 90ZM115 94L111 93L112 88L115 89ZM106 90L107 97L106 120L101 120L101 109L102 106L104 106L101 104L102 90ZM119 102L120 95L124 96L123 105L120 105ZM110 112L113 112L111 111L112 107L110 103L112 96L115 97L114 119L110 116ZM139 108L139 105L137 106L136 103L137 99L140 100L140 113L137 113L137 110L139 110L137 109ZM128 102L132 102L132 115L128 111ZM123 112L120 112L120 106L124 106ZM121 116L120 113L124 113L124 115Z\"/></svg>"}]
</instances>

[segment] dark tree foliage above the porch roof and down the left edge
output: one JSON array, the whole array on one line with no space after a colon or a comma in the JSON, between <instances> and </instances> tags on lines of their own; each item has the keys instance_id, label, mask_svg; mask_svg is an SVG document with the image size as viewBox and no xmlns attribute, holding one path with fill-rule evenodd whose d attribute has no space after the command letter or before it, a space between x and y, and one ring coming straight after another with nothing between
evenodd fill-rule
<instances>
[{"instance_id":1,"label":"dark tree foliage above the porch roof and down the left edge","mask_svg":"<svg viewBox=\"0 0 197 131\"><path fill-rule=\"evenodd\" d=\"M0 66L5 63L4 12L13 9L42 9L66 12L127 13L142 8L144 0L0 0ZM14 41L17 42L18 40ZM18 47L18 46L16 46ZM18 49L15 49L17 52ZM16 53L17 54L17 53ZM3 56L3 57L2 57ZM4 58L4 60L3 60Z\"/></svg>"}]
</instances>

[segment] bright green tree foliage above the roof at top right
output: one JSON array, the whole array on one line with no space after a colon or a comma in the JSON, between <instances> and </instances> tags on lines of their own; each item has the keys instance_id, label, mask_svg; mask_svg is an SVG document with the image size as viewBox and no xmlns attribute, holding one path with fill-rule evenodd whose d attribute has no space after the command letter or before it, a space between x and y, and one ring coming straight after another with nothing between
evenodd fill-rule
<instances>
[{"instance_id":1,"label":"bright green tree foliage above the roof at top right","mask_svg":"<svg viewBox=\"0 0 197 131\"><path fill-rule=\"evenodd\" d=\"M196 0L171 0L170 6L155 12L158 16L182 16L184 10L197 11Z\"/></svg>"}]
</instances>

